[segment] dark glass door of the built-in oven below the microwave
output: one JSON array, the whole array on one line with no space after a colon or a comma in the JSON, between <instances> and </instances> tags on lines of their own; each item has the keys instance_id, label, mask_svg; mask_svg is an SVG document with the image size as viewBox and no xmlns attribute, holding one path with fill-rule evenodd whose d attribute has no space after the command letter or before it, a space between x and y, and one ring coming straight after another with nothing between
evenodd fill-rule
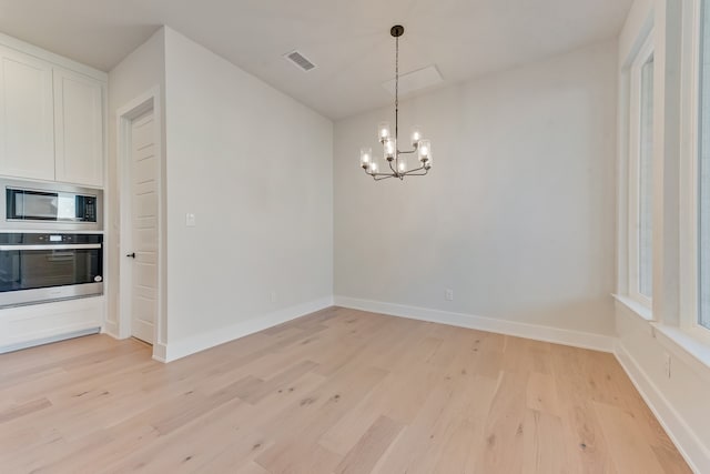
<instances>
[{"instance_id":1,"label":"dark glass door of the built-in oven below the microwave","mask_svg":"<svg viewBox=\"0 0 710 474\"><path fill-rule=\"evenodd\" d=\"M99 282L101 253L101 249L0 251L0 293Z\"/></svg>"}]
</instances>

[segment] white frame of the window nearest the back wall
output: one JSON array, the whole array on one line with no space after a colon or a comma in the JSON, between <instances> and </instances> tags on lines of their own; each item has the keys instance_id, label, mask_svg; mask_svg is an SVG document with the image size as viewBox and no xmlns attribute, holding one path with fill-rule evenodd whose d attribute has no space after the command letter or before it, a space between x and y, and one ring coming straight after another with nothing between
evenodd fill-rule
<instances>
[{"instance_id":1,"label":"white frame of the window nearest the back wall","mask_svg":"<svg viewBox=\"0 0 710 474\"><path fill-rule=\"evenodd\" d=\"M652 310L651 297L640 292L640 163L641 163L641 94L642 69L655 54L653 29L651 29L629 65L629 142L628 142L628 209L627 209L627 293L636 303ZM656 68L656 63L653 64ZM655 97L655 94L653 94ZM655 117L652 118L655 122ZM653 151L652 151L653 153ZM651 158L651 161L652 158ZM652 206L651 202L651 206ZM651 212L653 215L653 212ZM653 252L651 251L651 254ZM651 268L653 263L651 261ZM652 274L651 274L652 275Z\"/></svg>"}]
</instances>

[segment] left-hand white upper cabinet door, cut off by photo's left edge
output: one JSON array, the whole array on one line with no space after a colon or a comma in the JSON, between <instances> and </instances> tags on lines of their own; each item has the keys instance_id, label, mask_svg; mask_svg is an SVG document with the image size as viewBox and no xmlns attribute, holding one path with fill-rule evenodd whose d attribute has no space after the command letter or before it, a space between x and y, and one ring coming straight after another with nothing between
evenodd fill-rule
<instances>
[{"instance_id":1,"label":"left-hand white upper cabinet door, cut off by photo's left edge","mask_svg":"<svg viewBox=\"0 0 710 474\"><path fill-rule=\"evenodd\" d=\"M0 174L54 179L52 68L0 47Z\"/></svg>"}]
</instances>

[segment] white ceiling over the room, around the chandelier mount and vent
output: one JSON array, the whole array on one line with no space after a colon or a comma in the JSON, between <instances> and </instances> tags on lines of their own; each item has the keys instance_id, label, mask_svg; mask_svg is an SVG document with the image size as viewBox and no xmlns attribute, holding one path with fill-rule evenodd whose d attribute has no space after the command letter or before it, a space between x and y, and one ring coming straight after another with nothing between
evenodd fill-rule
<instances>
[{"instance_id":1,"label":"white ceiling over the room, around the chandelier mount and vent","mask_svg":"<svg viewBox=\"0 0 710 474\"><path fill-rule=\"evenodd\" d=\"M452 84L618 34L632 0L0 0L0 31L109 71L161 24L331 119L387 104L400 72ZM297 49L317 68L282 54Z\"/></svg>"}]
</instances>

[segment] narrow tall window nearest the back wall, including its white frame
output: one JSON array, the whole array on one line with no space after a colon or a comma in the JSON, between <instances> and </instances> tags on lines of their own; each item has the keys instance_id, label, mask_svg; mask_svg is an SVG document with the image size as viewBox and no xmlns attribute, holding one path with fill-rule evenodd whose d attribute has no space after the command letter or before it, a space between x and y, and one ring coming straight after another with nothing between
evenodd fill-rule
<instances>
[{"instance_id":1,"label":"narrow tall window nearest the back wall, including its white frame","mask_svg":"<svg viewBox=\"0 0 710 474\"><path fill-rule=\"evenodd\" d=\"M649 34L630 69L629 108L629 296L651 306L653 48Z\"/></svg>"}]
</instances>

